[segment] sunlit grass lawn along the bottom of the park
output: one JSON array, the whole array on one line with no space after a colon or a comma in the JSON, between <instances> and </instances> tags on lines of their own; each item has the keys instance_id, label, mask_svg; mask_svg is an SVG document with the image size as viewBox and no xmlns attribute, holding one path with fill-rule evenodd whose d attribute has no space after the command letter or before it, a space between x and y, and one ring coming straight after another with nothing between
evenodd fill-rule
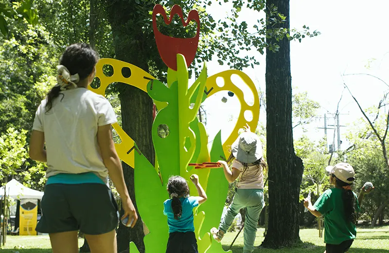
<instances>
[{"instance_id":1,"label":"sunlit grass lawn along the bottom of the park","mask_svg":"<svg viewBox=\"0 0 389 253\"><path fill-rule=\"evenodd\" d=\"M389 227L377 229L357 229L357 239L354 241L350 253L389 253ZM323 253L324 243L322 238L318 238L318 230L301 229L300 236L304 243L301 247L284 248L279 250L260 249L258 246L264 240L264 229L257 232L254 253ZM227 233L222 243L224 249L228 250L237 232ZM81 247L84 240L79 240ZM236 239L232 247L233 253L242 253L243 232ZM7 243L1 249L1 253L51 253L49 236L8 236Z\"/></svg>"}]
</instances>

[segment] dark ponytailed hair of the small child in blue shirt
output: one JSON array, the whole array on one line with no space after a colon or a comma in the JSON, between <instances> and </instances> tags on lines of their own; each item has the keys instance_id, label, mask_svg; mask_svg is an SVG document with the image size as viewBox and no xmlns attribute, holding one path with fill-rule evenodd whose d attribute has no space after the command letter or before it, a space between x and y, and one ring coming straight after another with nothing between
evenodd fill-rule
<instances>
[{"instance_id":1,"label":"dark ponytailed hair of the small child in blue shirt","mask_svg":"<svg viewBox=\"0 0 389 253\"><path fill-rule=\"evenodd\" d=\"M179 219L182 215L182 204L179 198L189 195L189 187L186 180L180 176L173 176L169 178L167 183L167 190L172 198L172 211L174 219Z\"/></svg>"}]
</instances>

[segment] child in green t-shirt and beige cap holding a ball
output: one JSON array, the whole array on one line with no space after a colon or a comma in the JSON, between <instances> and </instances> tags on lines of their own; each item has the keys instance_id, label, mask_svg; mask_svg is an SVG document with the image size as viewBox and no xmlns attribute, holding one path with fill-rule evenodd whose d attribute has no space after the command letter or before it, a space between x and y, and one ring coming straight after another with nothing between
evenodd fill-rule
<instances>
[{"instance_id":1,"label":"child in green t-shirt and beige cap holding a ball","mask_svg":"<svg viewBox=\"0 0 389 253\"><path fill-rule=\"evenodd\" d=\"M365 194L374 187L365 190L362 187L358 198L352 191L355 180L353 167L348 163L338 163L327 166L330 174L330 185L334 188L326 190L312 205L310 200L304 199L304 206L316 217L324 217L324 253L347 252L356 236L356 212L360 211L359 204Z\"/></svg>"}]
</instances>

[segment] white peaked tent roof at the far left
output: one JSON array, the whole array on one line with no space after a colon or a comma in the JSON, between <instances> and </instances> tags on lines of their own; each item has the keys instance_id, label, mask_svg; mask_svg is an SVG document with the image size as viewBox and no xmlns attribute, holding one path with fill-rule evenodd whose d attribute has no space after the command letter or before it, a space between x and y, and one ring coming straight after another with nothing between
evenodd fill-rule
<instances>
[{"instance_id":1,"label":"white peaked tent roof at the far left","mask_svg":"<svg viewBox=\"0 0 389 253\"><path fill-rule=\"evenodd\" d=\"M43 192L30 189L12 179L5 185L6 195L14 199L42 199ZM4 195L4 187L0 187L0 196Z\"/></svg>"}]
</instances>

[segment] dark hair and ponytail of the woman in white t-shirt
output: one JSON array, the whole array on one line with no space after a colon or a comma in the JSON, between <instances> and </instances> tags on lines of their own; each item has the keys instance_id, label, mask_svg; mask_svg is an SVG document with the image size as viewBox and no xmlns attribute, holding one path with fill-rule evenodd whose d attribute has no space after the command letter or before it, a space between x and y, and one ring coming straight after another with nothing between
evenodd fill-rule
<instances>
[{"instance_id":1,"label":"dark hair and ponytail of the woman in white t-shirt","mask_svg":"<svg viewBox=\"0 0 389 253\"><path fill-rule=\"evenodd\" d=\"M71 75L78 74L80 81L87 78L93 71L94 66L99 60L99 54L94 51L87 43L76 43L66 48L62 54L59 64L65 66ZM46 112L53 107L54 99L58 98L61 88L54 86L47 94Z\"/></svg>"}]
</instances>

